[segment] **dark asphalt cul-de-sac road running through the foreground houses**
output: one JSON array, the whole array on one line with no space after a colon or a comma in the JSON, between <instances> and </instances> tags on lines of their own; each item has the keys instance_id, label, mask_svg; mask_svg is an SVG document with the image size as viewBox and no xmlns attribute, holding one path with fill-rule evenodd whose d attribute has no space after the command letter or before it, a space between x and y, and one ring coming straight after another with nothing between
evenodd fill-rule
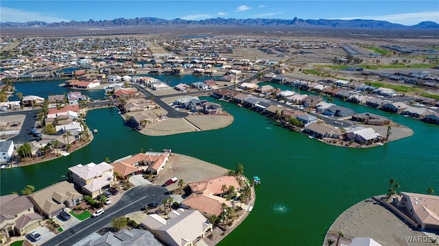
<instances>
[{"instance_id":1,"label":"dark asphalt cul-de-sac road running through the foreground houses","mask_svg":"<svg viewBox=\"0 0 439 246\"><path fill-rule=\"evenodd\" d=\"M123 194L115 205L106 209L104 214L82 221L78 225L58 234L58 236L51 238L43 246L73 245L91 233L106 227L106 225L111 223L113 217L121 217L130 212L139 211L145 207L145 204L150 202L161 204L162 200L168 196L167 189L161 186L135 186Z\"/></svg>"}]
</instances>

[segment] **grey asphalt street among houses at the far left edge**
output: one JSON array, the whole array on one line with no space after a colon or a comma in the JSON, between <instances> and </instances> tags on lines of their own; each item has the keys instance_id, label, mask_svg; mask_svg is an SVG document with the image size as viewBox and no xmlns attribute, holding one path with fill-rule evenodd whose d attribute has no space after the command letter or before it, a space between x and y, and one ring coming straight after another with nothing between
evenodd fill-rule
<instances>
[{"instance_id":1,"label":"grey asphalt street among houses at the far left edge","mask_svg":"<svg viewBox=\"0 0 439 246\"><path fill-rule=\"evenodd\" d=\"M7 116L7 115L17 115L17 114L24 114L25 119L23 121L23 125L21 125L21 129L19 134L16 136L10 138L10 140L14 140L14 144L21 144L25 142L29 142L32 140L36 140L32 134L30 134L30 127L35 126L36 122L36 114L40 110L15 110L10 112L1 112L0 117Z\"/></svg>"}]
</instances>

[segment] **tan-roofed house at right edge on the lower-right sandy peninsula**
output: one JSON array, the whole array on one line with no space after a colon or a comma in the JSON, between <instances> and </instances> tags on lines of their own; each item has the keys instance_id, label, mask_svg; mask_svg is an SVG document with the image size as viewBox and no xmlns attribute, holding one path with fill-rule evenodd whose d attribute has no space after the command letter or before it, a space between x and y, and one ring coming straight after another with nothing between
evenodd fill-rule
<instances>
[{"instance_id":1,"label":"tan-roofed house at right edge on the lower-right sandy peninsula","mask_svg":"<svg viewBox=\"0 0 439 246\"><path fill-rule=\"evenodd\" d=\"M439 196L401 192L394 202L421 229L439 231Z\"/></svg>"}]
</instances>

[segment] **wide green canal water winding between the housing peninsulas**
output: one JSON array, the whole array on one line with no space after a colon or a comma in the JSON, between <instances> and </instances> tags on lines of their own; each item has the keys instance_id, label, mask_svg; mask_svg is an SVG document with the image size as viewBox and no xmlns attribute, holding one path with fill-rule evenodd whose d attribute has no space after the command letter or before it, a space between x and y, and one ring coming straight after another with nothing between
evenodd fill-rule
<instances>
[{"instance_id":1,"label":"wide green canal water winding between the housing peninsulas","mask_svg":"<svg viewBox=\"0 0 439 246\"><path fill-rule=\"evenodd\" d=\"M86 123L99 130L92 143L58 160L1 170L1 195L19 192L26 184L40 189L58 182L78 163L115 160L140 148L172 149L228 169L241 163L247 177L261 178L252 212L219 245L322 245L339 214L372 194L385 193L390 178L401 191L425 193L429 186L439 190L438 125L348 104L414 130L413 136L382 147L350 149L325 145L256 112L220 103L235 117L232 125L157 137L123 125L115 108L92 110Z\"/></svg>"}]
</instances>

